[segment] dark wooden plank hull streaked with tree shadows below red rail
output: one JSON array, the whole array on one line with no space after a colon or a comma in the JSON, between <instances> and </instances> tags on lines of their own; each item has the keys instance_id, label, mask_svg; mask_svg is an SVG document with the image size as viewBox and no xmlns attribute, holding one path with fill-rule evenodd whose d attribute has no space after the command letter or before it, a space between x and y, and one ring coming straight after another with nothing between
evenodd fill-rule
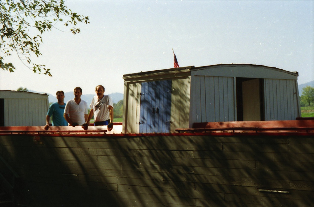
<instances>
[{"instance_id":1,"label":"dark wooden plank hull streaked with tree shadows below red rail","mask_svg":"<svg viewBox=\"0 0 314 207\"><path fill-rule=\"evenodd\" d=\"M26 134L0 135L0 155L27 206L313 206L313 144L311 133Z\"/></svg>"}]
</instances>

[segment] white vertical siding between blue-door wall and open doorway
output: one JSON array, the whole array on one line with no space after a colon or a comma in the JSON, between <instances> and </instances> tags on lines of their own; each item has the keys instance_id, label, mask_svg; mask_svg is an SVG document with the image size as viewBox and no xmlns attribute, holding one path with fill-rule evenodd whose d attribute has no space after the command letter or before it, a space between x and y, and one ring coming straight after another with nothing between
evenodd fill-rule
<instances>
[{"instance_id":1,"label":"white vertical siding between blue-door wall and open doorway","mask_svg":"<svg viewBox=\"0 0 314 207\"><path fill-rule=\"evenodd\" d=\"M190 127L194 122L236 121L233 77L194 76Z\"/></svg>"}]
</instances>

